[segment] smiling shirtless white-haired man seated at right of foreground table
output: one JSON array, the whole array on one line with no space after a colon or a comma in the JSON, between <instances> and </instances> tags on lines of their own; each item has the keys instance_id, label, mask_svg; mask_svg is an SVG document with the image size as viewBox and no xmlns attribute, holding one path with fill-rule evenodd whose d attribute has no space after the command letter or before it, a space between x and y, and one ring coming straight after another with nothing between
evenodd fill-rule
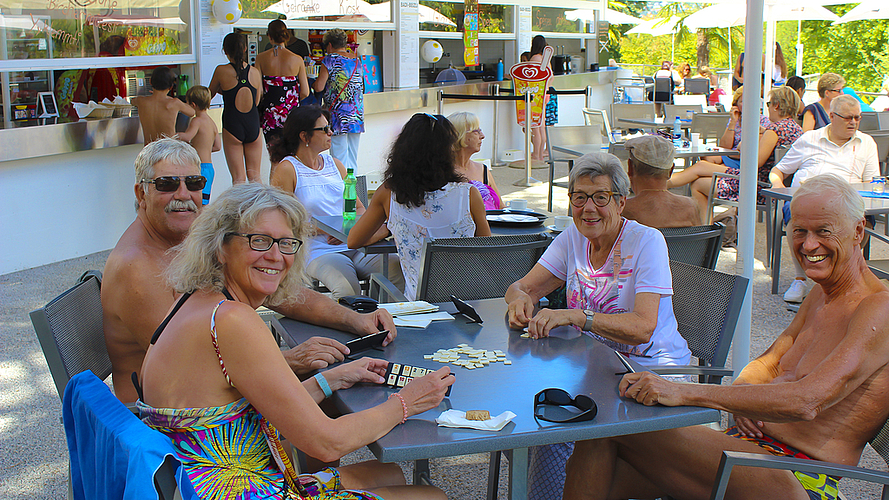
<instances>
[{"instance_id":1,"label":"smiling shirtless white-haired man seated at right of foreground table","mask_svg":"<svg viewBox=\"0 0 889 500\"><path fill-rule=\"evenodd\" d=\"M731 386L649 372L620 382L621 396L639 403L725 410L737 425L578 442L563 498L709 498L723 450L858 463L889 416L889 290L861 254L864 202L848 182L809 178L792 207L794 258L816 286L771 347ZM836 498L837 480L743 467L727 498Z\"/></svg>"}]
</instances>

